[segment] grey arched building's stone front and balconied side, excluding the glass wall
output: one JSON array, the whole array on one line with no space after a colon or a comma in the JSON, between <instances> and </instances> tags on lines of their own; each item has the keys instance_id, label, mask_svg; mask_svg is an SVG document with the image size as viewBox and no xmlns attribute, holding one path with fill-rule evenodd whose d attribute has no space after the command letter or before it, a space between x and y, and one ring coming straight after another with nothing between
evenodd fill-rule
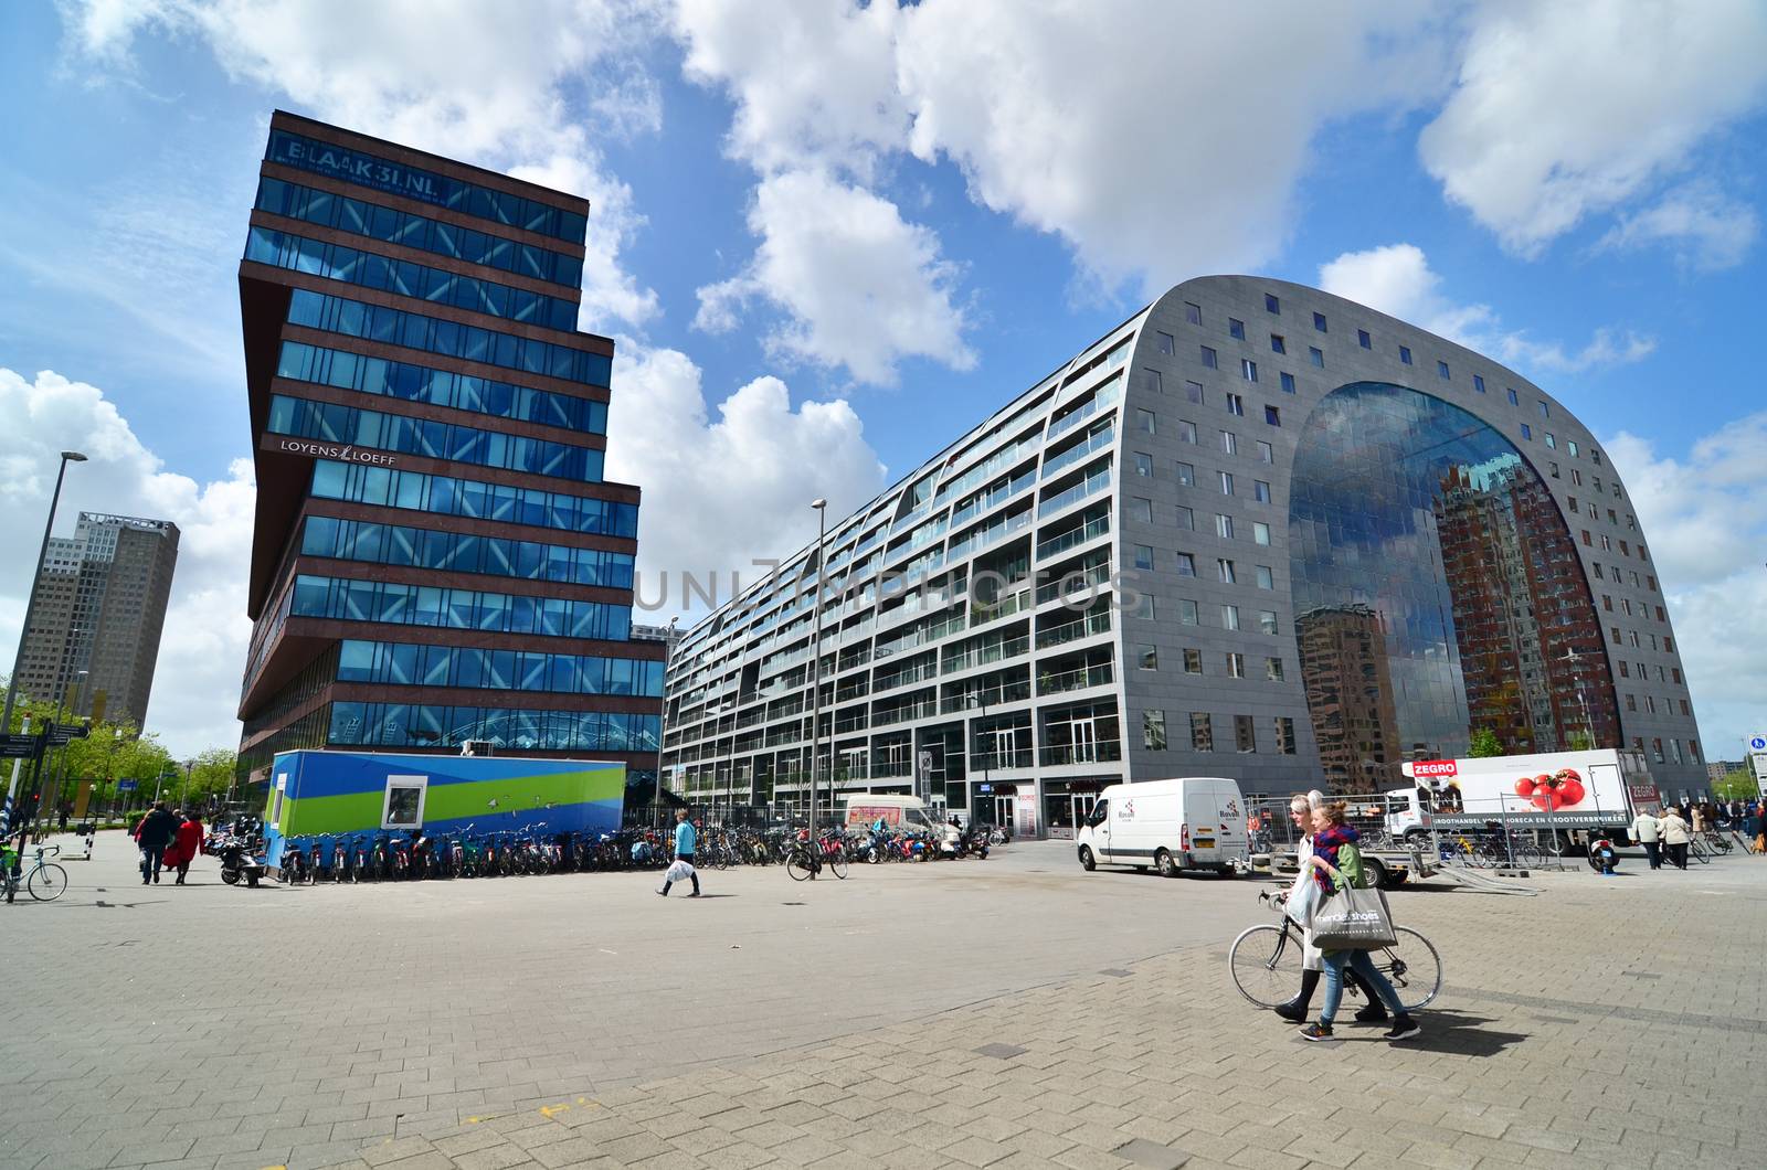
<instances>
[{"instance_id":1,"label":"grey arched building's stone front and balconied side, excluding the glass wall","mask_svg":"<svg viewBox=\"0 0 1767 1170\"><path fill-rule=\"evenodd\" d=\"M1230 332L1233 322L1242 336ZM1276 352L1272 336L1285 352ZM1244 362L1256 364L1256 382ZM1470 414L1537 472L1576 548L1612 673L1622 742L1599 746L1643 748L1666 790L1703 788L1707 769L1663 585L1631 497L1594 435L1557 398L1472 350L1341 297L1246 276L1179 285L864 509L830 523L829 589L839 597L823 606L820 622L822 776L832 776L836 790L917 790L981 817L1005 815L991 797L1011 785L1018 817L1030 802L1039 832L1078 811L1080 804L1064 804L1066 794L1085 799L1122 778L1232 776L1248 792L1318 785L1320 748L1292 601L1293 465L1318 403L1364 382ZM1202 401L1193 401L1193 384ZM1076 408L1078 421L1069 417ZM1108 435L1076 438L1104 419L1113 419ZM1090 449L1073 454L1076 447ZM990 461L997 467L965 482L970 468ZM1223 472L1233 477L1232 495ZM951 482L963 486L945 490ZM965 507L972 491L993 482L1000 491ZM940 527L942 514L961 520ZM1221 516L1232 536L1221 536ZM1081 520L1088 523L1078 527ZM991 525L991 539L972 539ZM928 564L931 550L949 555ZM1194 574L1180 571L1180 553ZM806 592L815 574L804 571L813 555L806 548L785 558L774 576L682 640L666 686L664 767L686 795L802 799L808 647L816 626ZM1149 560L1150 569L1138 567ZM1223 580L1223 560L1232 562L1232 583ZM919 571L898 576L896 592L864 592L876 574L912 566ZM1092 597L1088 626L1076 627L1081 612L1057 596L1067 574L1085 583L1081 597ZM1011 583L995 599L991 585L1002 578ZM922 624L935 626L901 645L899 631ZM972 650L995 631L1005 634L1000 654ZM1149 650L1157 665L1143 668ZM1599 657L1594 645L1578 650ZM1279 679L1269 677L1278 670L1270 659ZM1599 672L1599 663L1592 668ZM1157 728L1147 726L1149 712L1163 718L1164 748ZM1209 751L1193 746L1191 719L1200 714L1209 716ZM1558 718L1564 733L1574 718ZM1583 719L1596 730L1587 709ZM1392 739L1401 758L1424 753L1422 742ZM1373 772L1396 785L1396 765L1385 760ZM982 794L984 783L995 792Z\"/></svg>"}]
</instances>

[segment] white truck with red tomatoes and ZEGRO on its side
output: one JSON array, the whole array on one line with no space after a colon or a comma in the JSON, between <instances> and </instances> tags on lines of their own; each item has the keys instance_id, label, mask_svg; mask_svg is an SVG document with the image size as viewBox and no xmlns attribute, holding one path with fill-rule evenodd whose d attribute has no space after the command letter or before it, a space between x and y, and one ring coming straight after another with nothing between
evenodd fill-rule
<instances>
[{"instance_id":1,"label":"white truck with red tomatoes and ZEGRO on its side","mask_svg":"<svg viewBox=\"0 0 1767 1170\"><path fill-rule=\"evenodd\" d=\"M1638 813L1656 815L1663 797L1642 751L1548 751L1521 756L1417 760L1405 764L1410 788L1389 795L1387 831L1546 829L1578 841L1626 840Z\"/></svg>"}]
</instances>

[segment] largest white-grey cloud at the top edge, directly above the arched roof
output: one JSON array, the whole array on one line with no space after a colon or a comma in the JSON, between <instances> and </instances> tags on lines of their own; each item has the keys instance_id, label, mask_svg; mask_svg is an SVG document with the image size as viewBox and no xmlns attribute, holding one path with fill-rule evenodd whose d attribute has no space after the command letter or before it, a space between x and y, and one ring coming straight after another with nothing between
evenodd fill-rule
<instances>
[{"instance_id":1,"label":"largest white-grey cloud at the top edge, directly above the arched roof","mask_svg":"<svg viewBox=\"0 0 1767 1170\"><path fill-rule=\"evenodd\" d=\"M1295 7L929 0L903 19L912 148L970 198L1147 295L1281 253L1320 127L1440 76L1421 4Z\"/></svg>"}]
</instances>

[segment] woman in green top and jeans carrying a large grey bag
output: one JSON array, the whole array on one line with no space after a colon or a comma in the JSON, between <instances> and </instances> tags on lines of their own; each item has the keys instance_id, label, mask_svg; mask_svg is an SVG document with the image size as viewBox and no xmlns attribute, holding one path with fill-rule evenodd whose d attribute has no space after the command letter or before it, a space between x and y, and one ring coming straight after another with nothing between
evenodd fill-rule
<instances>
[{"instance_id":1,"label":"woman in green top and jeans carrying a large grey bag","mask_svg":"<svg viewBox=\"0 0 1767 1170\"><path fill-rule=\"evenodd\" d=\"M1357 831L1345 824L1341 802L1313 811L1313 855L1308 859L1308 871L1318 884L1323 901L1313 910L1311 935L1313 944L1322 951L1325 1004L1320 1007L1318 1023L1301 1029L1302 1039L1332 1037L1332 1020L1343 1000L1346 969L1362 976L1392 1011L1387 1039L1410 1039L1422 1034L1417 1022L1399 1004L1399 993L1368 958L1371 947L1391 946L1394 933L1385 894L1378 889L1368 889L1357 841Z\"/></svg>"}]
</instances>

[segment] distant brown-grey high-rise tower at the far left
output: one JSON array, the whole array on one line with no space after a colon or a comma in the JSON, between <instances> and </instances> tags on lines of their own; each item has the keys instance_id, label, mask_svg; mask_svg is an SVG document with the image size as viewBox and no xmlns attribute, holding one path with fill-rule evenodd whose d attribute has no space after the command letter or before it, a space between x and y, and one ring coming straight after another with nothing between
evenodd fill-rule
<instances>
[{"instance_id":1,"label":"distant brown-grey high-rise tower at the far left","mask_svg":"<svg viewBox=\"0 0 1767 1170\"><path fill-rule=\"evenodd\" d=\"M51 537L25 631L19 691L76 716L147 723L178 525L80 513Z\"/></svg>"}]
</instances>

